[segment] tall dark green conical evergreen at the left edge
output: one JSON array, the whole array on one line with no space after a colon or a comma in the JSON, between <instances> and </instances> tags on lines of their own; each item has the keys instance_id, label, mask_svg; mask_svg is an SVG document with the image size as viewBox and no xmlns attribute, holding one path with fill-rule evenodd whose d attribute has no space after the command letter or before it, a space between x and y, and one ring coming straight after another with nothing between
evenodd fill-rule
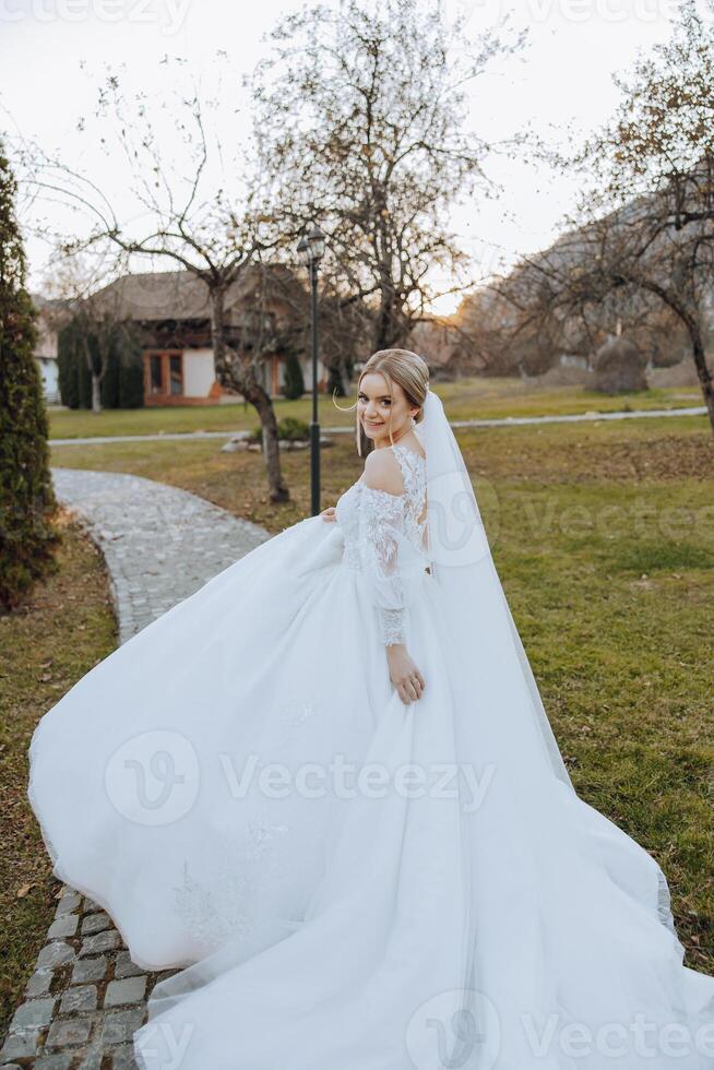
<instances>
[{"instance_id":1,"label":"tall dark green conical evergreen at the left edge","mask_svg":"<svg viewBox=\"0 0 714 1070\"><path fill-rule=\"evenodd\" d=\"M49 471L47 409L25 254L14 215L15 182L0 145L0 607L10 610L57 569L59 533Z\"/></svg>"}]
</instances>

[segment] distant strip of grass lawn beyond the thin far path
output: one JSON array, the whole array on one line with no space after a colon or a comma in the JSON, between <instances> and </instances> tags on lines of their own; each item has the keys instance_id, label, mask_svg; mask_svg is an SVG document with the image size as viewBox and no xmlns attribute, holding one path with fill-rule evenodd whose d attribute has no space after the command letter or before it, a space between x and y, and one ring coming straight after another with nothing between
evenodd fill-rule
<instances>
[{"instance_id":1,"label":"distant strip of grass lawn beyond the thin far path","mask_svg":"<svg viewBox=\"0 0 714 1070\"><path fill-rule=\"evenodd\" d=\"M471 417L498 418L508 416L552 416L563 413L621 412L652 408L682 408L701 405L695 388L646 390L639 393L607 397L580 387L546 387L516 379L462 379L440 383L437 388L452 419ZM349 409L355 395L336 399L336 405ZM278 419L295 416L309 421L311 399L274 402ZM354 426L354 412L340 412L332 397L321 394L318 403L320 424L324 427ZM91 438L114 435L159 435L186 431L235 431L258 426L251 405L186 405L167 408L107 409L90 413L86 409L50 409L50 437Z\"/></svg>"}]
</instances>

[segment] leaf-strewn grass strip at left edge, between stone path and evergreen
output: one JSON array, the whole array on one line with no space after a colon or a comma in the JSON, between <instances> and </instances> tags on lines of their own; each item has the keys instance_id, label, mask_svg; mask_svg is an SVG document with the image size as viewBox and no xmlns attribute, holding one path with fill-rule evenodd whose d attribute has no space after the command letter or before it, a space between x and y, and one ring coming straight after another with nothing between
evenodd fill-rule
<instances>
[{"instance_id":1,"label":"leaf-strewn grass strip at left edge, between stone path and evergreen","mask_svg":"<svg viewBox=\"0 0 714 1070\"><path fill-rule=\"evenodd\" d=\"M17 611L0 616L0 1034L22 999L57 906L27 802L27 748L40 715L117 645L104 562L67 514L58 571Z\"/></svg>"}]
</instances>

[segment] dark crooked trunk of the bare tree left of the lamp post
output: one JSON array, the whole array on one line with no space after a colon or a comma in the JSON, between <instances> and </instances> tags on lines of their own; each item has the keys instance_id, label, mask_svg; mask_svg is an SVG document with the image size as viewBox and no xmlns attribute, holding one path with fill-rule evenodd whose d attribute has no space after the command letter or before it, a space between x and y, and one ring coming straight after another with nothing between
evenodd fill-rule
<instances>
[{"instance_id":1,"label":"dark crooked trunk of the bare tree left of the lamp post","mask_svg":"<svg viewBox=\"0 0 714 1070\"><path fill-rule=\"evenodd\" d=\"M267 471L267 490L270 500L284 502L290 500L290 491L283 480L281 472L281 451L277 444L277 419L273 403L264 387L246 376L240 367L235 350L226 343L225 332L225 298L226 286L210 287L211 300L211 337L213 356L216 366L216 379L219 383L239 390L247 402L257 411L263 428L263 460ZM233 359L236 357L236 359Z\"/></svg>"}]
</instances>

